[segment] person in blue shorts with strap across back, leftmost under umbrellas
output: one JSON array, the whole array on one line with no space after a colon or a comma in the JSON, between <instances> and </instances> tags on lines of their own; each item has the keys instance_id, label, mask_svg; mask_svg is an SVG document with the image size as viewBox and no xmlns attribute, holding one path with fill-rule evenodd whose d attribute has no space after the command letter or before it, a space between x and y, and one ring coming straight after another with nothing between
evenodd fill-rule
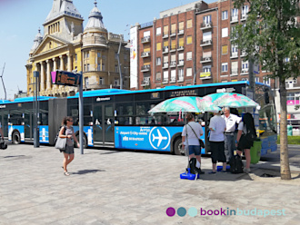
<instances>
[{"instance_id":1,"label":"person in blue shorts with strap across back, leftmost under umbrellas","mask_svg":"<svg viewBox=\"0 0 300 225\"><path fill-rule=\"evenodd\" d=\"M205 172L201 171L201 147L199 141L200 136L202 136L204 132L200 123L195 122L195 117L192 113L188 113L186 119L188 123L184 126L184 130L181 134L183 147L188 144L190 161L193 161L193 158L195 158L195 167L199 170L199 174L204 174Z\"/></svg>"}]
</instances>

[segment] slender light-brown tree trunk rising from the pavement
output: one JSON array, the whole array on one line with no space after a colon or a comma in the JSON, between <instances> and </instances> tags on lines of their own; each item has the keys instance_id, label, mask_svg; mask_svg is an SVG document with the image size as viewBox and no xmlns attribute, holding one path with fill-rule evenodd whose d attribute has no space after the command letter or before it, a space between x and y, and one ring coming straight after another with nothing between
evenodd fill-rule
<instances>
[{"instance_id":1,"label":"slender light-brown tree trunk rising from the pavement","mask_svg":"<svg viewBox=\"0 0 300 225\"><path fill-rule=\"evenodd\" d=\"M282 180L291 180L287 149L287 112L285 79L279 79L280 87L280 173Z\"/></svg>"}]
</instances>

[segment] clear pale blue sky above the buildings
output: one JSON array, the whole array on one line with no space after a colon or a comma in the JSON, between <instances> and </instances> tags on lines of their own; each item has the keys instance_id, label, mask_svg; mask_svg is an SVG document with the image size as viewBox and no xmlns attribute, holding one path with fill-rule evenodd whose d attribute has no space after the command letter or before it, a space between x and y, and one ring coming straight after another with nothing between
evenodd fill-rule
<instances>
[{"instance_id":1,"label":"clear pale blue sky above the buildings","mask_svg":"<svg viewBox=\"0 0 300 225\"><path fill-rule=\"evenodd\" d=\"M217 0L206 0L206 3ZM3 74L6 99L14 99L18 90L26 92L25 64L34 44L38 28L44 35L43 24L54 0L0 0L0 75ZM84 17L84 27L95 0L73 0ZM129 40L130 25L145 24L159 18L159 13L195 0L97 0L108 32L124 34ZM5 68L4 68L5 65ZM0 99L5 92L0 82Z\"/></svg>"}]
</instances>

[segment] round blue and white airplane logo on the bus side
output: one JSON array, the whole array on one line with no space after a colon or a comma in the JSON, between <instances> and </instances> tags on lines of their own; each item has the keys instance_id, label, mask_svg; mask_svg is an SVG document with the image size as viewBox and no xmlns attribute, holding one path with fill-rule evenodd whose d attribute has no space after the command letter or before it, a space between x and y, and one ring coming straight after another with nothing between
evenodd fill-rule
<instances>
[{"instance_id":1,"label":"round blue and white airplane logo on the bus side","mask_svg":"<svg viewBox=\"0 0 300 225\"><path fill-rule=\"evenodd\" d=\"M167 142L165 143L163 141ZM171 142L170 133L165 127L154 127L149 133L149 142L154 149L159 148L165 150ZM163 145L161 146L162 142Z\"/></svg>"}]
</instances>

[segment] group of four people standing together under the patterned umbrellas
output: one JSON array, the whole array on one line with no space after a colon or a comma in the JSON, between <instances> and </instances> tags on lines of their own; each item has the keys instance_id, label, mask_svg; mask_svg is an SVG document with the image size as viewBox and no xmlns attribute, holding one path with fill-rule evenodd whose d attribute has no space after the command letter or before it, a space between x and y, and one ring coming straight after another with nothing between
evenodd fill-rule
<instances>
[{"instance_id":1,"label":"group of four people standing together under the patterned umbrellas","mask_svg":"<svg viewBox=\"0 0 300 225\"><path fill-rule=\"evenodd\" d=\"M200 136L204 134L202 126L199 122L195 122L195 117L192 113L188 113L186 116L187 124L182 132L182 142L188 145L189 158L196 158L197 167L200 168L201 164L201 147L199 143ZM236 126L237 135L235 135ZM244 146L239 145L239 141L242 135L245 135L248 131L255 132L255 123L253 116L250 113L245 113L243 118L230 113L230 109L225 107L224 114L215 112L214 117L211 118L209 124L209 142L211 150L211 158L213 169L210 174L216 173L216 163L223 163L223 172L226 171L226 164L236 153L241 156L242 152L245 154L245 172L250 172L250 148L253 142L247 142ZM235 141L236 136L236 141ZM187 142L186 142L187 140ZM201 173L204 173L203 171Z\"/></svg>"}]
</instances>

